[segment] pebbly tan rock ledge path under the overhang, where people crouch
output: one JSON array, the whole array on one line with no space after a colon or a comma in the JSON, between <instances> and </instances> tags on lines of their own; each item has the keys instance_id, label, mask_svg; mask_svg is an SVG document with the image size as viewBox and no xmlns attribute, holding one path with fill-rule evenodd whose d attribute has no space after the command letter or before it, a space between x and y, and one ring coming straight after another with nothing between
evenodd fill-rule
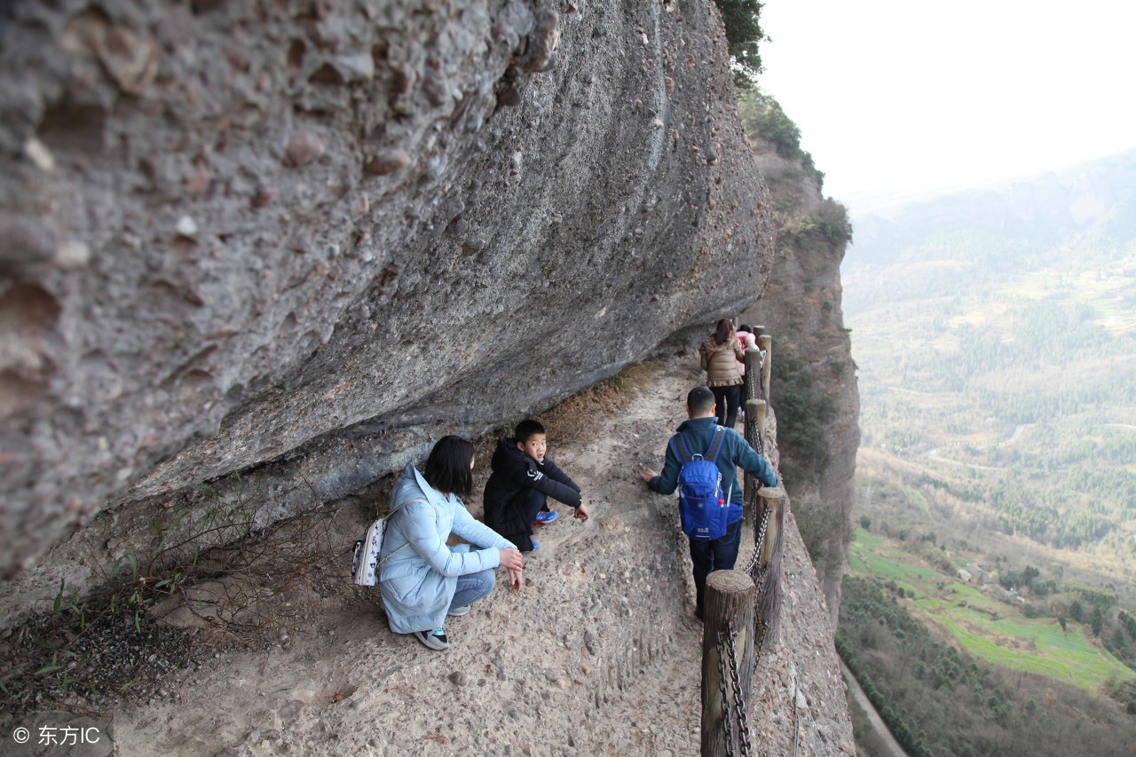
<instances>
[{"instance_id":1,"label":"pebbly tan rock ledge path under the overhang, where people crouch","mask_svg":"<svg viewBox=\"0 0 1136 757\"><path fill-rule=\"evenodd\" d=\"M145 700L83 722L109 723L116 754L131 756L698 754L702 626L690 559L671 498L638 477L659 467L685 417L692 367L682 355L638 375L630 401L594 418L585 443L558 444L550 430L550 456L593 517L566 511L544 526L524 590L499 585L450 618L449 650L392 634L377 592L350 584L344 551L298 584L295 627L266 648L198 659ZM365 507L349 498L328 513L346 550ZM784 549L779 633L754 676L754 754L851 756L828 610L791 515Z\"/></svg>"}]
</instances>

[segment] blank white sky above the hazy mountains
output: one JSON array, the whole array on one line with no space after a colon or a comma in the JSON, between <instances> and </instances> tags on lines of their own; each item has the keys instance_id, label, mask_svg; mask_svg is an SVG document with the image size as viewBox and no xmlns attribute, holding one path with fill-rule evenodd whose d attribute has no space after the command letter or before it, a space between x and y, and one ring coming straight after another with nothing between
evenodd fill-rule
<instances>
[{"instance_id":1,"label":"blank white sky above the hazy mountains","mask_svg":"<svg viewBox=\"0 0 1136 757\"><path fill-rule=\"evenodd\" d=\"M766 0L761 26L760 86L837 199L1136 147L1131 0Z\"/></svg>"}]
</instances>

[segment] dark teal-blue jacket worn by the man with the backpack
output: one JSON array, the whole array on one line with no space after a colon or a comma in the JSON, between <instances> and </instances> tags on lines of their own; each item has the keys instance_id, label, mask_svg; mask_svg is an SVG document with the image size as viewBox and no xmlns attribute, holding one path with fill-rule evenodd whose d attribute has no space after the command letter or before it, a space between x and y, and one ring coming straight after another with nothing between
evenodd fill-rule
<instances>
[{"instance_id":1,"label":"dark teal-blue jacket worn by the man with the backpack","mask_svg":"<svg viewBox=\"0 0 1136 757\"><path fill-rule=\"evenodd\" d=\"M717 425L713 416L691 418L678 426L678 433L683 434L686 449L692 455L701 455L713 441ZM721 490L729 492L729 523L742 519L742 504L745 502L745 490L737 483L737 468L755 475L763 486L777 485L777 474L766 458L753 451L750 442L733 429L726 429L726 438L721 440L721 449L718 450L715 461L721 472ZM682 467L683 461L675 452L675 446L668 442L667 461L662 466L662 473L651 479L648 486L660 494L673 494L678 489L678 472Z\"/></svg>"}]
</instances>

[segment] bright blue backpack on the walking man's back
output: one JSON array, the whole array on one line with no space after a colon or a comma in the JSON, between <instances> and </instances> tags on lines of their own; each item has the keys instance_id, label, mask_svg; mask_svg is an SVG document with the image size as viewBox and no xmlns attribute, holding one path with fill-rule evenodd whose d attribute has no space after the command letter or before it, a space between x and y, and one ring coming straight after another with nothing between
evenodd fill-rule
<instances>
[{"instance_id":1,"label":"bright blue backpack on the walking man's back","mask_svg":"<svg viewBox=\"0 0 1136 757\"><path fill-rule=\"evenodd\" d=\"M724 497L721 493L721 471L716 461L725 438L726 430L717 426L705 455L691 455L683 434L670 438L683 463L678 471L678 516L683 533L691 539L710 541L726 535L729 494Z\"/></svg>"}]
</instances>

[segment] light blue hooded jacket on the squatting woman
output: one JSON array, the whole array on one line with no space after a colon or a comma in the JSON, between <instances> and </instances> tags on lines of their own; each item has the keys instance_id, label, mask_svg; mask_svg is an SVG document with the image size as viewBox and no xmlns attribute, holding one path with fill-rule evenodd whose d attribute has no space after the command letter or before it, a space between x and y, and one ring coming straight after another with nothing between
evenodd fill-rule
<instances>
[{"instance_id":1,"label":"light blue hooded jacket on the squatting woman","mask_svg":"<svg viewBox=\"0 0 1136 757\"><path fill-rule=\"evenodd\" d=\"M391 510L379 552L386 563L378 587L395 633L443 627L458 576L496 568L501 564L498 550L516 549L475 521L460 499L426 483L414 463L407 464L394 484ZM446 547L451 532L469 544Z\"/></svg>"}]
</instances>

